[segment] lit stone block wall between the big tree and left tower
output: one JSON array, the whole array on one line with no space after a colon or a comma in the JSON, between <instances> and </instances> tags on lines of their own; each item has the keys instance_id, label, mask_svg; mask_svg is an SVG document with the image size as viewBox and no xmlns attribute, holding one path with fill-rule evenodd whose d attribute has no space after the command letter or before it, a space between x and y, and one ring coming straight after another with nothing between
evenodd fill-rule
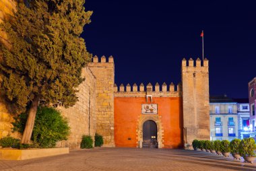
<instances>
[{"instance_id":1,"label":"lit stone block wall between the big tree and left tower","mask_svg":"<svg viewBox=\"0 0 256 171\"><path fill-rule=\"evenodd\" d=\"M58 107L63 116L69 121L71 133L67 141L61 141L57 147L77 149L83 135L96 133L96 78L88 67L82 70L82 77L86 80L79 85L78 102L69 108Z\"/></svg>"}]
</instances>

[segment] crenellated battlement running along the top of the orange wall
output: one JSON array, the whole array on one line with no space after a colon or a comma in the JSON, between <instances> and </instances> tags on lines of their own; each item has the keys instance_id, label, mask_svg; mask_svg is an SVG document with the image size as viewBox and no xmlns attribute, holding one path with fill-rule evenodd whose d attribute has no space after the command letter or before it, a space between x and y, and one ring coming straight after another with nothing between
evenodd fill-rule
<instances>
[{"instance_id":1,"label":"crenellated battlement running along the top of the orange wall","mask_svg":"<svg viewBox=\"0 0 256 171\"><path fill-rule=\"evenodd\" d=\"M154 88L154 89L153 89ZM161 91L160 91L161 90ZM152 83L148 83L147 86L144 86L143 83L137 86L136 83L133 84L131 87L129 83L127 83L126 86L124 86L123 83L118 87L115 83L114 85L114 92L115 97L121 97L121 96L146 96L146 94L152 94L154 96L168 96L168 97L177 97L181 96L181 83L179 83L176 88L174 86L174 83L170 83L169 86L166 85L166 83L162 83L162 86L159 85L159 83L156 83L155 86L152 86Z\"/></svg>"}]
</instances>

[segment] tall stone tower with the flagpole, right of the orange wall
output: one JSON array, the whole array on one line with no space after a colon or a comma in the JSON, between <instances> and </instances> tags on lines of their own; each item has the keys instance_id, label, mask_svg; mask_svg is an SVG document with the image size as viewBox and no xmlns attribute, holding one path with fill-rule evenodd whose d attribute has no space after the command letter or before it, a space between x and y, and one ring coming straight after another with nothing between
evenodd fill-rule
<instances>
[{"instance_id":1,"label":"tall stone tower with the flagpole, right of the orange wall","mask_svg":"<svg viewBox=\"0 0 256 171\"><path fill-rule=\"evenodd\" d=\"M208 60L182 61L183 137L185 147L193 139L210 139ZM191 147L191 146L190 146Z\"/></svg>"}]
</instances>

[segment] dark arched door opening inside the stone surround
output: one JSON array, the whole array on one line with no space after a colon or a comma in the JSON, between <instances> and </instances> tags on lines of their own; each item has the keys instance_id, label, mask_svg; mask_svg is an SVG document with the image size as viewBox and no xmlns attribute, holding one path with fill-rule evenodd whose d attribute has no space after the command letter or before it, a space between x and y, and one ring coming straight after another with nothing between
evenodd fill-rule
<instances>
[{"instance_id":1,"label":"dark arched door opening inside the stone surround","mask_svg":"<svg viewBox=\"0 0 256 171\"><path fill-rule=\"evenodd\" d=\"M142 147L157 148L158 137L157 137L157 126L152 120L145 121L143 123L143 142Z\"/></svg>"}]
</instances>

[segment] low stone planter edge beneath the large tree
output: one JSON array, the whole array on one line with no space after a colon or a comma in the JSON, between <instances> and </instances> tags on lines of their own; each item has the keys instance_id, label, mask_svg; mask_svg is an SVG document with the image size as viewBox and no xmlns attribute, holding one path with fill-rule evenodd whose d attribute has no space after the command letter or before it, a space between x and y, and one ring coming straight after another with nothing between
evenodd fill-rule
<instances>
[{"instance_id":1,"label":"low stone planter edge beneath the large tree","mask_svg":"<svg viewBox=\"0 0 256 171\"><path fill-rule=\"evenodd\" d=\"M0 160L28 160L69 153L69 148L0 149Z\"/></svg>"}]
</instances>

